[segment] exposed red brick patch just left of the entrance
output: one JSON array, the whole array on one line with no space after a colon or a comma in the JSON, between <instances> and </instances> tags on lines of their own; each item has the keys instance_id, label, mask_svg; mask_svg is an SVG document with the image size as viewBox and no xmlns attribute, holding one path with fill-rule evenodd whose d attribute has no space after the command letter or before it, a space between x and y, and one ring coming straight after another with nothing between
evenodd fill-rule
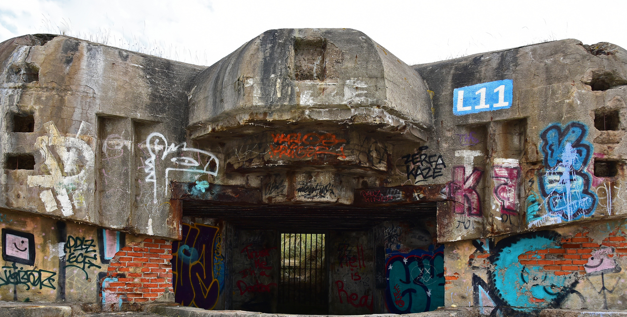
<instances>
[{"instance_id":1,"label":"exposed red brick patch just left of the entrance","mask_svg":"<svg viewBox=\"0 0 627 317\"><path fill-rule=\"evenodd\" d=\"M122 247L108 267L110 281L103 285L107 303L142 303L154 301L166 288L172 289L172 243L145 239ZM102 283L102 281L101 281ZM111 301L115 299L115 301Z\"/></svg>"}]
</instances>

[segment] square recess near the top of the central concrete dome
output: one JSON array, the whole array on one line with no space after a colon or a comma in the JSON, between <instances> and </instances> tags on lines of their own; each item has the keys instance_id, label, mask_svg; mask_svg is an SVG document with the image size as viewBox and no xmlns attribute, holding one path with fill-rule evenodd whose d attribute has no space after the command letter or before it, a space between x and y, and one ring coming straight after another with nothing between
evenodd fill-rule
<instances>
[{"instance_id":1,"label":"square recess near the top of the central concrete dome","mask_svg":"<svg viewBox=\"0 0 627 317\"><path fill-rule=\"evenodd\" d=\"M297 39L294 48L294 75L296 80L325 80L324 39Z\"/></svg>"}]
</instances>

